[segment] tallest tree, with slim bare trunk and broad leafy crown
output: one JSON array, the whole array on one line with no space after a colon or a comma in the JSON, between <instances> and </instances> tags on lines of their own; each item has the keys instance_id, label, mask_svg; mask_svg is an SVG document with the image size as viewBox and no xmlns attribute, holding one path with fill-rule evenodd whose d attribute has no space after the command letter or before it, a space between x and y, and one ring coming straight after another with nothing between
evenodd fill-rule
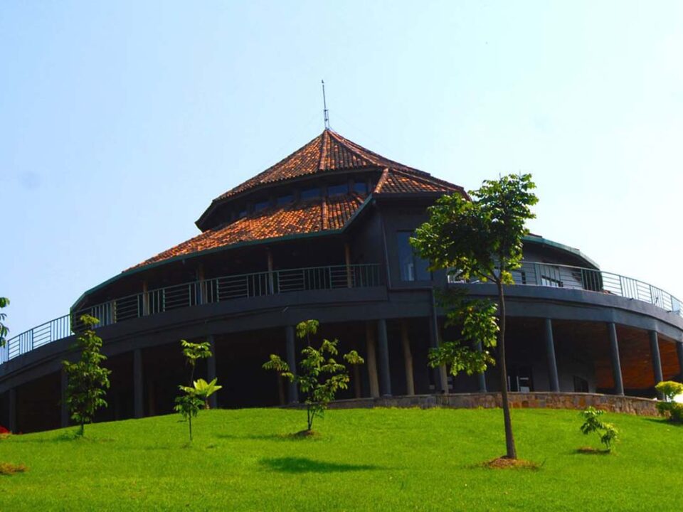
<instances>
[{"instance_id":1,"label":"tallest tree, with slim bare trunk and broad leafy crown","mask_svg":"<svg viewBox=\"0 0 683 512\"><path fill-rule=\"evenodd\" d=\"M430 219L415 231L415 238L411 239L420 256L430 260L433 270L448 269L460 279L489 281L497 287L497 310L475 304L472 314L465 314L464 320L474 324L486 323L494 318L497 311L497 364L500 371L506 457L509 459L517 459L517 449L512 434L507 392L503 285L514 284L511 271L521 265L522 238L529 233L526 220L536 216L531 212L531 206L538 202L532 192L534 188L536 186L531 181L530 174L519 174L484 181L479 189L470 192L471 201L460 194L443 196L428 209ZM485 331L489 332L486 329ZM476 341L471 337L464 338L470 342ZM487 338L482 341L485 344ZM461 350L452 353L452 366L481 370L481 359L472 356L474 348L460 348ZM468 361L468 358L474 361Z\"/></svg>"}]
</instances>

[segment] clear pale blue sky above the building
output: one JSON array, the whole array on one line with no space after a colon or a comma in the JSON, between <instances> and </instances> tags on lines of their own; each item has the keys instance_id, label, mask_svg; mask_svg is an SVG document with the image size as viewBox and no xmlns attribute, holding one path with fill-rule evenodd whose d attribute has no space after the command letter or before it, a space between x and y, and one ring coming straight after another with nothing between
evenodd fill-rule
<instances>
[{"instance_id":1,"label":"clear pale blue sky above the building","mask_svg":"<svg viewBox=\"0 0 683 512\"><path fill-rule=\"evenodd\" d=\"M683 298L681 1L0 3L0 295L15 335L198 233L330 124Z\"/></svg>"}]
</instances>

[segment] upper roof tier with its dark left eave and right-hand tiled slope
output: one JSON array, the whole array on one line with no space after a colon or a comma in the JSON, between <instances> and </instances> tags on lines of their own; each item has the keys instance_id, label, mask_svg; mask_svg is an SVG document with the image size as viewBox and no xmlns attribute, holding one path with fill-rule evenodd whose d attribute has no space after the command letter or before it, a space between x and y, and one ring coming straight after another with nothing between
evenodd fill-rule
<instances>
[{"instance_id":1,"label":"upper roof tier with its dark left eave and right-hand tiled slope","mask_svg":"<svg viewBox=\"0 0 683 512\"><path fill-rule=\"evenodd\" d=\"M215 227L216 218L214 218L214 214L220 206L244 196L245 193L257 191L261 188L322 174L384 169L389 169L392 175L396 171L404 174L403 177L398 178L390 176L386 184L387 189L400 188L401 181L418 180L424 183L427 188L433 188L433 191L463 191L459 186L433 178L424 171L418 171L418 169L385 158L355 142L351 142L331 129L325 129L318 137L286 156L277 164L215 198L196 221L196 225L203 231ZM381 191L376 190L374 192L379 193ZM406 190L406 192L409 191Z\"/></svg>"}]
</instances>

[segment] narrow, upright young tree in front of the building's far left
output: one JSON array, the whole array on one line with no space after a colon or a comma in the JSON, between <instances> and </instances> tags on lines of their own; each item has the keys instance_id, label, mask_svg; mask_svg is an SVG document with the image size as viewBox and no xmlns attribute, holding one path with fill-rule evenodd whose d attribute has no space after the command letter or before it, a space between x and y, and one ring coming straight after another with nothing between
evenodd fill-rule
<instances>
[{"instance_id":1,"label":"narrow, upright young tree in front of the building's far left","mask_svg":"<svg viewBox=\"0 0 683 512\"><path fill-rule=\"evenodd\" d=\"M62 361L62 364L68 377L66 404L71 412L71 419L80 425L78 434L83 436L85 424L92 421L100 407L107 407L104 396L109 388L109 375L112 372L100 366L107 359L107 356L100 353L102 338L93 330L100 321L87 314L80 316L79 320L85 328L80 334L77 333L75 344L80 349L80 361Z\"/></svg>"}]
</instances>

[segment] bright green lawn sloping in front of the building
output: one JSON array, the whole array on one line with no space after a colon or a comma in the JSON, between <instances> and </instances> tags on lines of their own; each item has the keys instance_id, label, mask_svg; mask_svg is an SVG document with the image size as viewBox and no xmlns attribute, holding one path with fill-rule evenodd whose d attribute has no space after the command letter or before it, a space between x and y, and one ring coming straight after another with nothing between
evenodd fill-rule
<instances>
[{"instance_id":1,"label":"bright green lawn sloping in front of the building","mask_svg":"<svg viewBox=\"0 0 683 512\"><path fill-rule=\"evenodd\" d=\"M615 454L578 432L576 411L514 410L519 456L540 469L487 469L502 455L500 410L331 410L319 435L297 410L202 411L0 439L0 511L680 511L683 428L605 415Z\"/></svg>"}]
</instances>

